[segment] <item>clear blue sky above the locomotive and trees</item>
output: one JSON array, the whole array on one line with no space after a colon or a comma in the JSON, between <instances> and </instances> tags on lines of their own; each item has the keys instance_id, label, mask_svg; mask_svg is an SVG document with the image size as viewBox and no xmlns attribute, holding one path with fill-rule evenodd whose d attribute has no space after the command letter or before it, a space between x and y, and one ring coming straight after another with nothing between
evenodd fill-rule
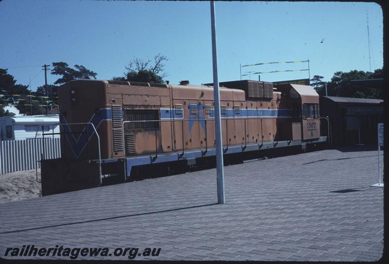
<instances>
[{"instance_id":1,"label":"clear blue sky above the locomotive and trees","mask_svg":"<svg viewBox=\"0 0 389 264\"><path fill-rule=\"evenodd\" d=\"M383 15L364 2L215 2L219 81L240 79L239 64L310 60L310 76L383 65ZM209 1L3 0L0 68L35 90L41 65L84 65L98 79L122 76L134 57L168 57L165 80L212 82ZM321 43L322 42L322 43ZM52 67L50 67L52 68ZM307 69L307 63L242 68L242 74ZM59 76L48 74L48 83ZM308 71L261 74L263 81L308 78ZM248 79L243 76L242 79ZM258 79L258 75L251 75Z\"/></svg>"}]
</instances>

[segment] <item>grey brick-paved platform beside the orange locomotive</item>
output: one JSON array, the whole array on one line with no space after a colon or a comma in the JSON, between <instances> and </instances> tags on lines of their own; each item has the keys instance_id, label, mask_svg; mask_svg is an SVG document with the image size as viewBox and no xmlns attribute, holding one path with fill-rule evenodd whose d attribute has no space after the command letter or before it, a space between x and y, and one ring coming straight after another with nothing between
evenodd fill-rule
<instances>
[{"instance_id":1,"label":"grey brick-paved platform beside the orange locomotive","mask_svg":"<svg viewBox=\"0 0 389 264\"><path fill-rule=\"evenodd\" d=\"M136 260L375 261L377 180L377 151L325 150L226 167L224 205L215 169L0 204L0 257L64 245L161 247ZM78 259L91 258L127 260Z\"/></svg>"}]
</instances>

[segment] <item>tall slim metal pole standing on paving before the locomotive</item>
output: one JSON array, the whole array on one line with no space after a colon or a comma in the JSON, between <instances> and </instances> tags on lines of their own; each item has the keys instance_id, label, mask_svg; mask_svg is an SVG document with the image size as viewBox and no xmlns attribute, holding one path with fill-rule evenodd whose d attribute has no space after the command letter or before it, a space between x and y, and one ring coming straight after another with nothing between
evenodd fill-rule
<instances>
[{"instance_id":1,"label":"tall slim metal pole standing on paving before the locomotive","mask_svg":"<svg viewBox=\"0 0 389 264\"><path fill-rule=\"evenodd\" d=\"M217 78L215 4L213 1L211 1L211 31L212 31L213 100L215 105L217 202L219 204L224 204L225 195L224 195L222 127L221 127L221 120L220 120L219 81Z\"/></svg>"}]
</instances>

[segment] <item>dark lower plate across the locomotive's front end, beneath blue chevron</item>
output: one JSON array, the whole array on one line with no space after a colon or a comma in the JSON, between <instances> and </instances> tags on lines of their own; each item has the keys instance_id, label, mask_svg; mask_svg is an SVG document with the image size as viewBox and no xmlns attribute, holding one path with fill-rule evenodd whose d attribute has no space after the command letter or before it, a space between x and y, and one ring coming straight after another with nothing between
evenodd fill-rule
<instances>
[{"instance_id":1,"label":"dark lower plate across the locomotive's front end, beneath blue chevron","mask_svg":"<svg viewBox=\"0 0 389 264\"><path fill-rule=\"evenodd\" d=\"M98 187L99 163L61 158L42 160L41 181L42 196Z\"/></svg>"}]
</instances>

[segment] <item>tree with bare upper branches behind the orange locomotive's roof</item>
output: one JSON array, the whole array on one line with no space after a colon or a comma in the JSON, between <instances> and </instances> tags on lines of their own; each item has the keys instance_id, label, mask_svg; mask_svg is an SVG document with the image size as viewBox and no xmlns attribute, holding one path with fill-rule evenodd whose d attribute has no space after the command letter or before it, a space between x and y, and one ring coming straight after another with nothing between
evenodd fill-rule
<instances>
[{"instance_id":1,"label":"tree with bare upper branches behind the orange locomotive's roof","mask_svg":"<svg viewBox=\"0 0 389 264\"><path fill-rule=\"evenodd\" d=\"M151 60L147 61L135 58L130 61L128 66L125 67L127 72L124 73L126 81L136 81L136 82L154 82L154 83L163 83L163 78L167 75L163 73L165 65L164 61L168 59L166 56L161 55L160 53L154 56L154 65L151 65Z\"/></svg>"}]
</instances>

